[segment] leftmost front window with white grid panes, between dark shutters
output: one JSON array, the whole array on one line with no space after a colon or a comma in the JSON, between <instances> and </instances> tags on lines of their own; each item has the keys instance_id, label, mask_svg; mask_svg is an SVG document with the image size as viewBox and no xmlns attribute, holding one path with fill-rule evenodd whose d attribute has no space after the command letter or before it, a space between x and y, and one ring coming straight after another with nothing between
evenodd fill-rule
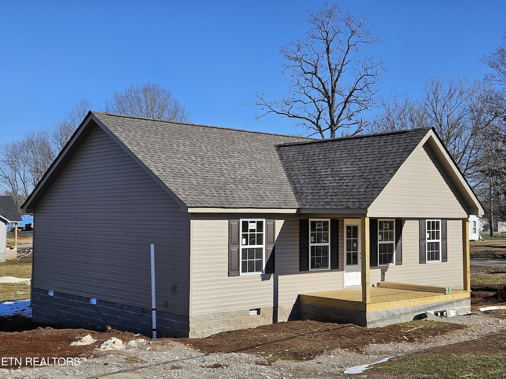
<instances>
[{"instance_id":1,"label":"leftmost front window with white grid panes, between dark shutters","mask_svg":"<svg viewBox=\"0 0 506 379\"><path fill-rule=\"evenodd\" d=\"M265 220L241 219L241 274L264 271Z\"/></svg>"}]
</instances>

